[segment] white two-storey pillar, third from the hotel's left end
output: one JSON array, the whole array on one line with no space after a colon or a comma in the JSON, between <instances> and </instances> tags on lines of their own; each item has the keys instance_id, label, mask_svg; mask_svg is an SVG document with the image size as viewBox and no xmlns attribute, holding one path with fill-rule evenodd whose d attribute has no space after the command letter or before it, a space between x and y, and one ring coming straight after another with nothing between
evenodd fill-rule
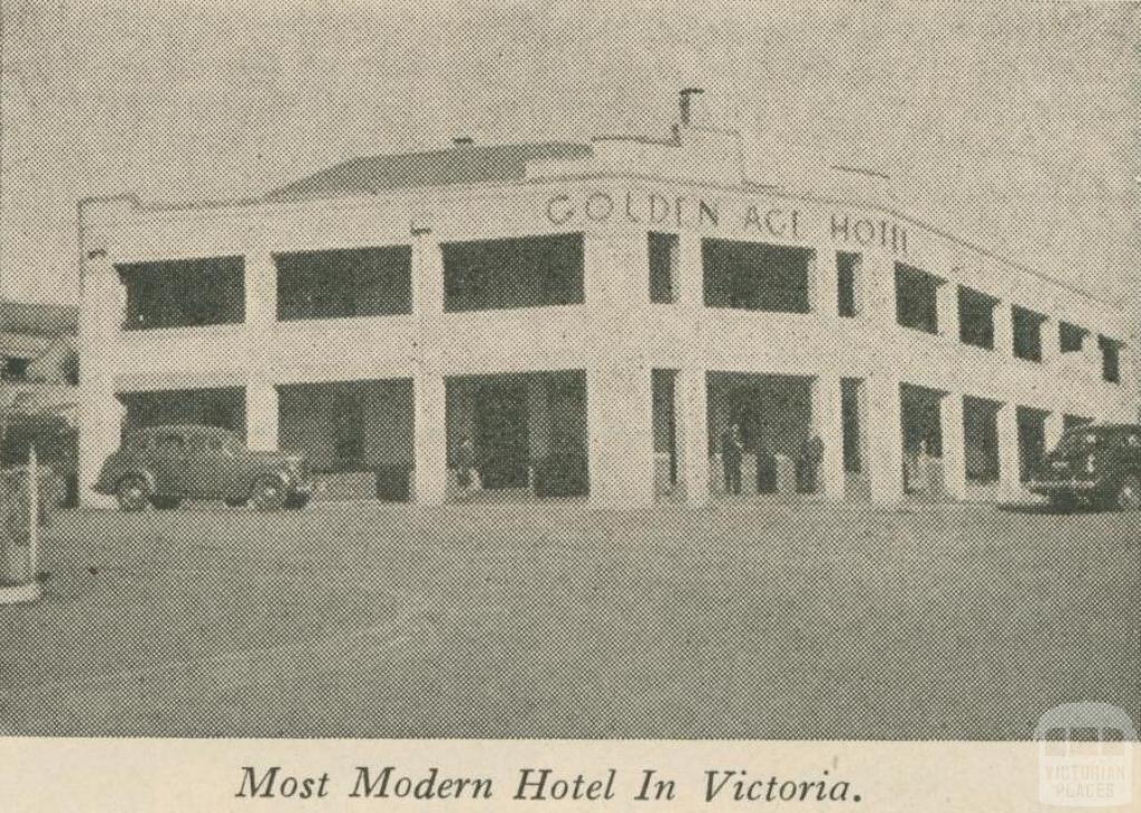
<instances>
[{"instance_id":1,"label":"white two-storey pillar, third from the hotel's left end","mask_svg":"<svg viewBox=\"0 0 1141 813\"><path fill-rule=\"evenodd\" d=\"M412 312L416 324L413 363L413 499L438 505L447 490L447 390L439 334L444 316L444 261L426 221L413 227Z\"/></svg>"}]
</instances>

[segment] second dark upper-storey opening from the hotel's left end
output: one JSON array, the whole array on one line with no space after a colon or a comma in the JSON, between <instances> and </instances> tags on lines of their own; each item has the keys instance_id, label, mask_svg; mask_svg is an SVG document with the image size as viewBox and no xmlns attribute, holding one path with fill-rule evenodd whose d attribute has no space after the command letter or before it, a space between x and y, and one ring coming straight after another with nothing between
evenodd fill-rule
<instances>
[{"instance_id":1,"label":"second dark upper-storey opening from the hotel's left end","mask_svg":"<svg viewBox=\"0 0 1141 813\"><path fill-rule=\"evenodd\" d=\"M283 322L412 312L410 246L299 251L274 262Z\"/></svg>"}]
</instances>

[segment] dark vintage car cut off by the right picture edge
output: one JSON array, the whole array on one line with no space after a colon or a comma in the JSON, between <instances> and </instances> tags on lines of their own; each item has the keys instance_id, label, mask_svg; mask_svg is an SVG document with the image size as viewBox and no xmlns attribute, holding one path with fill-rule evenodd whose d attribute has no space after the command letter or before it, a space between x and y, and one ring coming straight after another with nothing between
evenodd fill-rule
<instances>
[{"instance_id":1,"label":"dark vintage car cut off by the right picture edge","mask_svg":"<svg viewBox=\"0 0 1141 813\"><path fill-rule=\"evenodd\" d=\"M1027 487L1059 507L1087 503L1141 511L1141 424L1067 430Z\"/></svg>"}]
</instances>

